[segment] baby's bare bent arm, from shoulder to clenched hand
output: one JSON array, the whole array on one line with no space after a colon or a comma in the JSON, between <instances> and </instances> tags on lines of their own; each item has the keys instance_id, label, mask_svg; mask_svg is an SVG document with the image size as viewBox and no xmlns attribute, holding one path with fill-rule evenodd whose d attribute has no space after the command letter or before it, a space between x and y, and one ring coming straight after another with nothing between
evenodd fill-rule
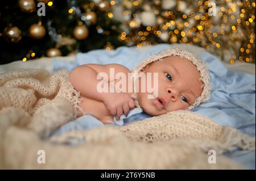
<instances>
[{"instance_id":1,"label":"baby's bare bent arm, from shoulder to clenched hand","mask_svg":"<svg viewBox=\"0 0 256 181\"><path fill-rule=\"evenodd\" d=\"M117 92L98 92L97 84L101 80L97 80L98 73L108 74L108 84L110 86L110 68L114 68L115 74L119 72L127 73L129 70L119 64L86 64L78 66L69 74L69 80L77 91L88 98L103 102L112 115L117 115L117 119L122 113L127 115L130 108L135 106L134 100L125 93Z\"/></svg>"}]
</instances>

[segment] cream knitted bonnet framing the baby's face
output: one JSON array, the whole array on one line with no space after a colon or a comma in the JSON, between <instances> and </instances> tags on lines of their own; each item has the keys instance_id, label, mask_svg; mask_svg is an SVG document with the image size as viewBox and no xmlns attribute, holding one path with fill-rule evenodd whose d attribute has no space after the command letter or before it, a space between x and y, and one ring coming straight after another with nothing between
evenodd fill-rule
<instances>
[{"instance_id":1,"label":"cream knitted bonnet framing the baby's face","mask_svg":"<svg viewBox=\"0 0 256 181\"><path fill-rule=\"evenodd\" d=\"M191 61L193 65L196 66L197 70L200 71L200 79L199 81L203 82L201 89L203 89L202 94L196 98L195 102L191 104L187 110L191 110L192 108L199 106L199 104L206 102L210 97L210 76L207 65L195 54L189 52L188 50L184 50L181 48L170 48L159 52L158 54L152 55L151 57L143 60L141 64L139 64L135 69L133 69L133 73L139 73L143 70L143 68L155 61L163 60L164 57L169 56L180 56L181 58L185 58L188 61ZM137 103L138 104L138 103Z\"/></svg>"}]
</instances>

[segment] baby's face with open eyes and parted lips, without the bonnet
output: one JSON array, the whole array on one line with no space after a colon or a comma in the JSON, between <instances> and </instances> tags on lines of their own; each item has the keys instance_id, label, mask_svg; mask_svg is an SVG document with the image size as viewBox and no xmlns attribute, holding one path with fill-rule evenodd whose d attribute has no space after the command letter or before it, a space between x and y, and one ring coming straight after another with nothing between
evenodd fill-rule
<instances>
[{"instance_id":1,"label":"baby's face with open eyes and parted lips, without the bonnet","mask_svg":"<svg viewBox=\"0 0 256 181\"><path fill-rule=\"evenodd\" d=\"M158 73L158 98L156 99L148 99L147 95L152 92L141 92L141 80L139 80L139 104L152 116L185 110L203 91L201 89L203 82L199 81L200 73L196 66L179 56L170 56L163 58L162 61L152 62L143 72L151 73L152 86L154 86L153 74Z\"/></svg>"}]
</instances>

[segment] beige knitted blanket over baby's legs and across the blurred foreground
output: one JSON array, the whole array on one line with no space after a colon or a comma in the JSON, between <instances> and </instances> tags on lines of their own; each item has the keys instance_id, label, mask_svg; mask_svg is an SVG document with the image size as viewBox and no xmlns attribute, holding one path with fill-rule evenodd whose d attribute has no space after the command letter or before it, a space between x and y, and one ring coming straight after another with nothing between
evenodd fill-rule
<instances>
[{"instance_id":1,"label":"beige knitted blanket over baby's legs and across the blurred foreground","mask_svg":"<svg viewBox=\"0 0 256 181\"><path fill-rule=\"evenodd\" d=\"M189 111L47 138L75 118L78 98L65 69L0 74L0 169L243 169L221 153L255 149L255 138Z\"/></svg>"}]
</instances>

